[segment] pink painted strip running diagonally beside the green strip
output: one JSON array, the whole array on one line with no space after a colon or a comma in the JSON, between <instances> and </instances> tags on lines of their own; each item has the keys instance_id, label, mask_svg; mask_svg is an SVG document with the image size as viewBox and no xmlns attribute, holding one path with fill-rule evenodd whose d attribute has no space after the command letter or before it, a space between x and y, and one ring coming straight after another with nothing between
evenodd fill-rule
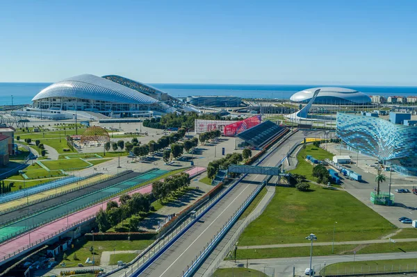
<instances>
[{"instance_id":1,"label":"pink painted strip running diagonally beside the green strip","mask_svg":"<svg viewBox=\"0 0 417 277\"><path fill-rule=\"evenodd\" d=\"M205 170L206 169L204 167L193 167L192 169L188 169L185 172L190 174L190 177L193 177L197 174L202 173ZM129 192L129 194L134 194L138 192L140 192L141 194L148 194L152 192L152 184L146 185L145 187L140 187L137 190L133 190ZM31 246L35 246L36 244L43 242L49 237L54 237L55 235L62 233L67 228L72 228L72 226L75 226L83 221L95 217L100 208L106 210L108 201L119 201L119 196L116 196L113 199L109 199L102 203L93 205L90 208L85 208L84 210L81 210L79 212L74 212L73 214L68 215L67 217L57 219L56 221L53 221L50 224L41 226L39 228L36 228L35 230L31 230L31 232L16 237L14 240L9 240L1 244L0 261L6 260L9 257L9 255L11 257L14 255L14 253L17 254L20 251L28 249L29 244L31 244Z\"/></svg>"}]
</instances>

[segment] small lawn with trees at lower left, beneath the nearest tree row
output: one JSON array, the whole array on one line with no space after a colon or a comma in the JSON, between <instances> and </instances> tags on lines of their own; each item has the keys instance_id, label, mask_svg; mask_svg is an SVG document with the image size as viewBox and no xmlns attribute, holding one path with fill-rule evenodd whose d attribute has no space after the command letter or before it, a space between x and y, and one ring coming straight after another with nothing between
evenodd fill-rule
<instances>
[{"instance_id":1,"label":"small lawn with trees at lower left, beneath the nearest tree row","mask_svg":"<svg viewBox=\"0 0 417 277\"><path fill-rule=\"evenodd\" d=\"M109 240L109 241L87 241L85 239L80 239L79 242L74 242L74 249L65 251L68 258L65 260L67 267L76 267L80 262L85 266L91 266L90 264L85 264L85 260L90 258L92 260L92 253L90 252L90 246L94 248L95 254L95 265L100 264L101 253L103 251L121 251L121 250L142 250L154 242L153 240ZM74 260L74 253L76 253L77 260ZM56 268L60 268L59 264L63 262L63 254L56 257L58 265Z\"/></svg>"}]
</instances>

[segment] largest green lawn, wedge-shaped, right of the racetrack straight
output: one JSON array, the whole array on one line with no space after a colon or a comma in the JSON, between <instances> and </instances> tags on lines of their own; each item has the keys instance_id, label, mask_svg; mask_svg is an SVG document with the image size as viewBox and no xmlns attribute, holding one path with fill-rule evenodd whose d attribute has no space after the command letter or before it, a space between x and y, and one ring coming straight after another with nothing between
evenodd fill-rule
<instances>
[{"instance_id":1,"label":"largest green lawn, wedge-shaped, right of the racetrack straight","mask_svg":"<svg viewBox=\"0 0 417 277\"><path fill-rule=\"evenodd\" d=\"M240 235L240 245L306 242L314 233L320 242L375 240L393 233L396 227L344 191L313 185L311 192L277 187L263 212ZM334 224L334 222L338 222Z\"/></svg>"}]
</instances>

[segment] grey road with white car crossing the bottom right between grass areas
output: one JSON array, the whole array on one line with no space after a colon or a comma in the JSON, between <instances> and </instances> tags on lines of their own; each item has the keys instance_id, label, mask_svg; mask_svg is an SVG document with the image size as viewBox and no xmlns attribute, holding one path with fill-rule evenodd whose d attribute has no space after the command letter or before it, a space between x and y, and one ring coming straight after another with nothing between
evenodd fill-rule
<instances>
[{"instance_id":1,"label":"grey road with white car crossing the bottom right between grass areas","mask_svg":"<svg viewBox=\"0 0 417 277\"><path fill-rule=\"evenodd\" d=\"M316 272L320 271L326 265L332 265L336 262L353 262L366 260L397 260L417 258L417 252L409 253L380 253L380 254L361 254L361 255L328 255L313 257L313 268ZM295 266L295 275L304 276L304 270L310 267L309 257L296 258L277 258L277 259L256 259L256 260L237 260L222 261L220 268L246 267L246 263L251 269L264 271L265 269L274 269L275 276L293 276L293 267ZM414 262L412 262L414 268ZM411 265L411 262L410 262ZM272 270L268 270L272 271Z\"/></svg>"}]
</instances>

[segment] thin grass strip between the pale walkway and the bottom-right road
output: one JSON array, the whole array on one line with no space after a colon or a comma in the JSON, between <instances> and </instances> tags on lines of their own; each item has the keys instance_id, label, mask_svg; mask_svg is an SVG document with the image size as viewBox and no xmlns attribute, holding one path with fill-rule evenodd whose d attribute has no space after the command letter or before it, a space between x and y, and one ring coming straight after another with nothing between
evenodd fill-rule
<instances>
[{"instance_id":1,"label":"thin grass strip between the pale walkway and the bottom-right road","mask_svg":"<svg viewBox=\"0 0 417 277\"><path fill-rule=\"evenodd\" d=\"M365 244L359 247L359 244L334 245L334 255L353 255L356 251L359 254L372 253L400 253L417 251L417 242L397 242L382 244ZM266 259L266 258L291 258L306 257L310 255L310 246L300 247L277 247L265 249L239 249L236 252L238 259ZM332 245L320 245L313 247L313 255L332 255ZM227 258L233 260L234 257Z\"/></svg>"}]
</instances>

